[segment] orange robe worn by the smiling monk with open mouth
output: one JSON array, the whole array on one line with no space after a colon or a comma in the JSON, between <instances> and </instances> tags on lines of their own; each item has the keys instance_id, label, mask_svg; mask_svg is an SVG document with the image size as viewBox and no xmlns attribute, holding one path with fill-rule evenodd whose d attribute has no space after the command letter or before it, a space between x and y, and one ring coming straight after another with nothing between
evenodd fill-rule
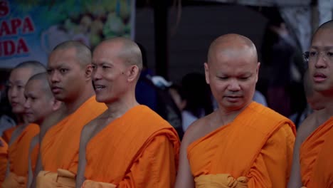
<instances>
[{"instance_id":1,"label":"orange robe worn by the smiling monk with open mouth","mask_svg":"<svg viewBox=\"0 0 333 188\"><path fill-rule=\"evenodd\" d=\"M138 105L88 142L83 187L173 187L179 145L168 122Z\"/></svg>"}]
</instances>

